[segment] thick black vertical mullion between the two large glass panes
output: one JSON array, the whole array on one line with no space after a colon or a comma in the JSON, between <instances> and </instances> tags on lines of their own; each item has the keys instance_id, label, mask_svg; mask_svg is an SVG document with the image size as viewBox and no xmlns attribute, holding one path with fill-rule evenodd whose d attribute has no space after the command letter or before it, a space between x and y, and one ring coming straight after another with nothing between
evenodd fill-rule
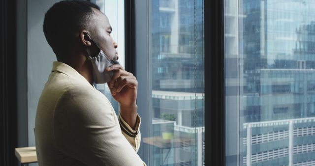
<instances>
[{"instance_id":1,"label":"thick black vertical mullion between the two large glass panes","mask_svg":"<svg viewBox=\"0 0 315 166\"><path fill-rule=\"evenodd\" d=\"M205 0L205 165L225 166L223 0Z\"/></svg>"}]
</instances>

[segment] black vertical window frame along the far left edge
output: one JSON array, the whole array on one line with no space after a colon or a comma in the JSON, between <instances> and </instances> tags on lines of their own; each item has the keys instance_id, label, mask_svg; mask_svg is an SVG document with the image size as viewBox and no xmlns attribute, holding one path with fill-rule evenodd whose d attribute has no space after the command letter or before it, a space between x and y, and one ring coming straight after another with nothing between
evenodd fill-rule
<instances>
[{"instance_id":1,"label":"black vertical window frame along the far left edge","mask_svg":"<svg viewBox=\"0 0 315 166\"><path fill-rule=\"evenodd\" d=\"M16 4L16 0L1 0L0 2L1 166L12 166L17 164L17 159L14 155L14 148L16 148L18 144Z\"/></svg>"}]
</instances>

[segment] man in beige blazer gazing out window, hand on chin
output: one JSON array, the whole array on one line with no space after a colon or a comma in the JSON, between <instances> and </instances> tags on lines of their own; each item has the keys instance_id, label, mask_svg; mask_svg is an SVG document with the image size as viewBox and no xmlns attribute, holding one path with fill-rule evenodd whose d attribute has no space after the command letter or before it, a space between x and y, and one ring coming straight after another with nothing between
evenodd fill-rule
<instances>
[{"instance_id":1,"label":"man in beige blazer gazing out window, hand on chin","mask_svg":"<svg viewBox=\"0 0 315 166\"><path fill-rule=\"evenodd\" d=\"M45 14L43 30L58 61L36 113L39 166L145 166L136 153L137 80L117 62L107 17L88 1L60 1ZM93 83L108 83L119 117Z\"/></svg>"}]
</instances>

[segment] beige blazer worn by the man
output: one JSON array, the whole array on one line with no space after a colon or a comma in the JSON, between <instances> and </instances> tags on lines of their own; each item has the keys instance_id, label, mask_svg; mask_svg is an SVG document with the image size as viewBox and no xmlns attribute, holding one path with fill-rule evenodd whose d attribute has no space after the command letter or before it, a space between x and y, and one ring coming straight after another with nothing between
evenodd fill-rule
<instances>
[{"instance_id":1,"label":"beige blazer worn by the man","mask_svg":"<svg viewBox=\"0 0 315 166\"><path fill-rule=\"evenodd\" d=\"M54 62L35 119L39 166L146 166L137 155L136 130L82 75Z\"/></svg>"}]
</instances>

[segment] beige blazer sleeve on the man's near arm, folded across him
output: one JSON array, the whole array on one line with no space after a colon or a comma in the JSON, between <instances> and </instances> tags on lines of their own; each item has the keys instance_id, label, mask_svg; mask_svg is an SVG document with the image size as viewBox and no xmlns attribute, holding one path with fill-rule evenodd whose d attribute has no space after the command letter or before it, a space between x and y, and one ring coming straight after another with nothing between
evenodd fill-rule
<instances>
[{"instance_id":1,"label":"beige blazer sleeve on the man's near arm, folded across him","mask_svg":"<svg viewBox=\"0 0 315 166\"><path fill-rule=\"evenodd\" d=\"M114 120L109 103L82 87L66 91L53 119L56 147L87 166L146 166Z\"/></svg>"}]
</instances>

